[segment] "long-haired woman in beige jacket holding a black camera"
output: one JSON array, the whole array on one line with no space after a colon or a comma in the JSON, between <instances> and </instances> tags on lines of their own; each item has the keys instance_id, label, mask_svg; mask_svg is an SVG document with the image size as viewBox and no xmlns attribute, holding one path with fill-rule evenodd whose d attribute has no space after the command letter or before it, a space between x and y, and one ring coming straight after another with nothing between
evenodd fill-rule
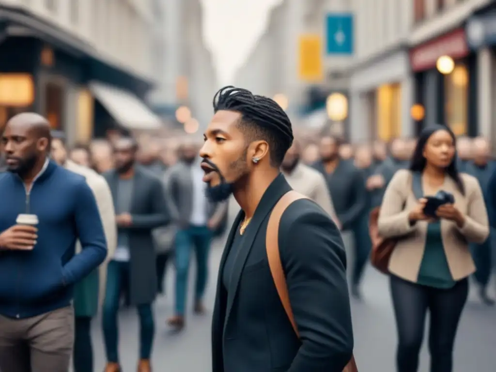
<instances>
[{"instance_id":1,"label":"long-haired woman in beige jacket holding a black camera","mask_svg":"<svg viewBox=\"0 0 496 372\"><path fill-rule=\"evenodd\" d=\"M378 229L397 239L389 260L398 330L398 372L417 372L426 314L430 314L431 372L451 372L453 345L475 271L469 243L489 235L477 180L456 169L455 136L446 126L419 136L409 170L387 186Z\"/></svg>"}]
</instances>

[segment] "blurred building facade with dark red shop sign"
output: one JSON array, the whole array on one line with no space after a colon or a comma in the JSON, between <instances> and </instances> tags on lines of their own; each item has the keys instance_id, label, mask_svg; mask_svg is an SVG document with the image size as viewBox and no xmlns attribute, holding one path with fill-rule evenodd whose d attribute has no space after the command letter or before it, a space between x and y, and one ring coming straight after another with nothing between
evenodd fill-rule
<instances>
[{"instance_id":1,"label":"blurred building facade with dark red shop sign","mask_svg":"<svg viewBox=\"0 0 496 372\"><path fill-rule=\"evenodd\" d=\"M488 105L483 105L483 112L479 112L488 88L479 67L484 68L488 56L484 51L478 53L469 48L465 25L474 12L490 2L413 2L410 64L415 104L422 108L422 115L413 121L415 133L426 125L440 123L448 125L457 135L474 136L480 133L480 128L489 126Z\"/></svg>"}]
</instances>

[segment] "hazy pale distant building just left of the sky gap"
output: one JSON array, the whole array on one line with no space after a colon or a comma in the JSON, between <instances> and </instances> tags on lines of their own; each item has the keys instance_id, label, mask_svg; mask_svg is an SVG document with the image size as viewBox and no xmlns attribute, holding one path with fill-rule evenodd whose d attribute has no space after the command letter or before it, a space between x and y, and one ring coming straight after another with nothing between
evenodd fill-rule
<instances>
[{"instance_id":1,"label":"hazy pale distant building just left of the sky gap","mask_svg":"<svg viewBox=\"0 0 496 372\"><path fill-rule=\"evenodd\" d=\"M189 127L199 130L212 116L212 98L218 88L212 53L203 39L202 4L199 0L153 1L162 16L155 18L157 86L150 101L168 121L175 121L175 111L186 106L191 111Z\"/></svg>"}]
</instances>

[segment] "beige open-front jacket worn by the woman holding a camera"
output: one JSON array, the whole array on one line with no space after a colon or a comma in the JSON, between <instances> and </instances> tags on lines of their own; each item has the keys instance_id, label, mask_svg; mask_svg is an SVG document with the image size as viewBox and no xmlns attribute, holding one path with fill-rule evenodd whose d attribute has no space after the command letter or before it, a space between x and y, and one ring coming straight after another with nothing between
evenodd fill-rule
<instances>
[{"instance_id":1,"label":"beige open-front jacket worn by the woman holding a camera","mask_svg":"<svg viewBox=\"0 0 496 372\"><path fill-rule=\"evenodd\" d=\"M455 206L465 215L465 224L460 229L456 223L441 220L441 235L449 270L454 280L463 279L475 271L469 243L483 243L489 236L486 205L479 182L472 176L460 174L465 185L465 195L456 183L446 177L441 189L455 197ZM417 205L412 190L410 171L400 170L386 188L379 213L379 235L384 238L399 238L389 261L389 271L411 282L417 282L424 256L427 236L426 221L411 226L409 212ZM403 209L403 205L405 208Z\"/></svg>"}]
</instances>

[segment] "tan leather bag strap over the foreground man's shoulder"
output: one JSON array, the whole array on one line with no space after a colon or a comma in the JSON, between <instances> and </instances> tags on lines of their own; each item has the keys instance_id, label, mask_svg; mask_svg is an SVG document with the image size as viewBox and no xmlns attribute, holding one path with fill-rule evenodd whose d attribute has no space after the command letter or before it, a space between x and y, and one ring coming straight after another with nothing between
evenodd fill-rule
<instances>
[{"instance_id":1,"label":"tan leather bag strap over the foreground man's shoulder","mask_svg":"<svg viewBox=\"0 0 496 372\"><path fill-rule=\"evenodd\" d=\"M274 209L270 213L269 222L267 225L267 235L265 238L265 248L267 250L267 259L269 261L270 272L274 280L274 284L279 294L282 306L288 315L289 321L295 330L295 333L299 336L298 328L296 326L295 318L293 316L293 310L291 309L291 303L289 301L288 286L286 284L286 278L284 276L284 270L282 267L281 256L279 253L279 223L281 222L281 217L286 208L296 200L308 199L306 196L291 190L284 194L281 199L274 206ZM357 363L355 362L355 357L352 356L350 362L346 365L343 372L358 372Z\"/></svg>"}]
</instances>

